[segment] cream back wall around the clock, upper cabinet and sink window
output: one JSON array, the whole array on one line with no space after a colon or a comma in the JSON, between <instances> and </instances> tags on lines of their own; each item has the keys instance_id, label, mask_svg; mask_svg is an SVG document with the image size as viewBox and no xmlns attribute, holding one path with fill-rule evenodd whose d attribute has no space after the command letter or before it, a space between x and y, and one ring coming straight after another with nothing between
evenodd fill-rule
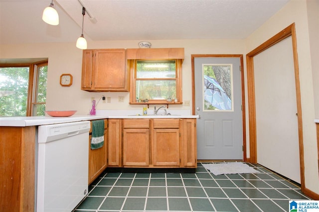
<instances>
[{"instance_id":1,"label":"cream back wall around the clock, upper cabinet and sink window","mask_svg":"<svg viewBox=\"0 0 319 212\"><path fill-rule=\"evenodd\" d=\"M89 42L89 49L138 48L139 41L100 41ZM191 101L191 54L244 54L244 40L150 40L152 48L185 49L182 65L183 101ZM47 110L77 110L76 115L87 114L91 109L91 97L98 101L102 95L111 97L111 103L97 105L97 109L142 110L141 105L129 105L129 92L87 92L81 90L82 51L74 43L45 43L2 45L0 58L49 58ZM59 77L62 73L73 75L73 84L62 87ZM118 96L125 101L118 102ZM170 109L191 110L191 107L172 105Z\"/></svg>"}]
</instances>

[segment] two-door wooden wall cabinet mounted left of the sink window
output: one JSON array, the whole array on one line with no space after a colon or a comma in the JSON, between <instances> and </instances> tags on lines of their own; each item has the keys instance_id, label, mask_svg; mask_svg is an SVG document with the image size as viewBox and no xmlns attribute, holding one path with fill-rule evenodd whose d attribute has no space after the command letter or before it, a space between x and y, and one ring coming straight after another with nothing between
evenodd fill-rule
<instances>
[{"instance_id":1,"label":"two-door wooden wall cabinet mounted left of the sink window","mask_svg":"<svg viewBox=\"0 0 319 212\"><path fill-rule=\"evenodd\" d=\"M125 49L83 50L82 90L129 91L129 75Z\"/></svg>"}]
</instances>

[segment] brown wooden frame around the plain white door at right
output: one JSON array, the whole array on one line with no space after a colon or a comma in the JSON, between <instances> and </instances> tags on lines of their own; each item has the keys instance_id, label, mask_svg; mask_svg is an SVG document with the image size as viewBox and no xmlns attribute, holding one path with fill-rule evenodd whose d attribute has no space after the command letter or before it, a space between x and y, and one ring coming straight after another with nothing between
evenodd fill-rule
<instances>
[{"instance_id":1,"label":"brown wooden frame around the plain white door at right","mask_svg":"<svg viewBox=\"0 0 319 212\"><path fill-rule=\"evenodd\" d=\"M254 56L286 39L292 37L296 98L297 98L297 115L298 115L298 135L299 135L299 155L300 155L300 175L301 189L305 191L305 165L304 165L304 142L303 142L303 120L301 106L301 92L299 80L299 64L297 53L297 38L295 23L292 23L269 40L258 46L246 55L247 62L247 89L248 89L248 116L249 116L249 149L250 158L248 162L257 163L257 135L256 135L256 102L255 102L255 81L254 81Z\"/></svg>"}]
</instances>

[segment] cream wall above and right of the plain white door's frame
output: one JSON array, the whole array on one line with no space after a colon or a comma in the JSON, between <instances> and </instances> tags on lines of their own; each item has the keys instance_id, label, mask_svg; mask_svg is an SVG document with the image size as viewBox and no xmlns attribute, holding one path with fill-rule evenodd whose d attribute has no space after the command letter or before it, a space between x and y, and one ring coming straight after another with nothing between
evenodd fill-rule
<instances>
[{"instance_id":1,"label":"cream wall above and right of the plain white door's frame","mask_svg":"<svg viewBox=\"0 0 319 212\"><path fill-rule=\"evenodd\" d=\"M315 18L318 18L318 13ZM279 12L277 12L247 38L246 53L252 51L293 22L296 23L297 51L301 85L305 152L305 185L306 188L319 194L318 148L316 125L314 123L316 114L313 85L313 82L319 82L318 78L313 81L313 72L318 75L319 70L312 70L307 1L289 1ZM318 61L318 55L316 60Z\"/></svg>"}]
</instances>

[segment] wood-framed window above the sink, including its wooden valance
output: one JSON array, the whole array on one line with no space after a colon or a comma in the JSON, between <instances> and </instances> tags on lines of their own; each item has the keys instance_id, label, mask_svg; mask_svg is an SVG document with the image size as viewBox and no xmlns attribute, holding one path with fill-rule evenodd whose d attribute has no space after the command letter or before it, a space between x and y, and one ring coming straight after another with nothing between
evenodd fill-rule
<instances>
[{"instance_id":1,"label":"wood-framed window above the sink, including its wooden valance","mask_svg":"<svg viewBox=\"0 0 319 212\"><path fill-rule=\"evenodd\" d=\"M131 72L130 104L182 104L183 54L174 58L168 55L166 49L148 50L151 56L148 55L147 59L128 57ZM181 50L183 53L183 48ZM160 57L158 51L163 51L164 56ZM154 52L157 58L153 59Z\"/></svg>"}]
</instances>

